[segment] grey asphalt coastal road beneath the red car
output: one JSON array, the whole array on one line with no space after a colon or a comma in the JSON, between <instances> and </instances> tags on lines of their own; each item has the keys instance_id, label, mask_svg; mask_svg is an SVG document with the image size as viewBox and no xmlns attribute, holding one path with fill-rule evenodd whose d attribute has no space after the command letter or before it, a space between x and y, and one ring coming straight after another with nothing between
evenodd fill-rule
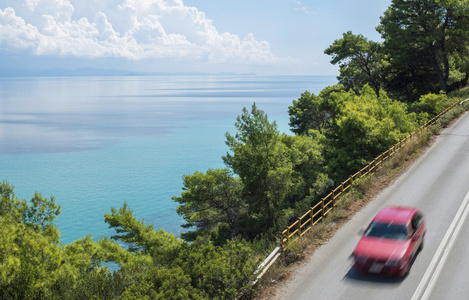
<instances>
[{"instance_id":1,"label":"grey asphalt coastal road beneath the red car","mask_svg":"<svg viewBox=\"0 0 469 300\"><path fill-rule=\"evenodd\" d=\"M469 205L464 206L468 192L469 113L465 113L405 174L316 250L280 288L277 299L469 299ZM349 257L360 230L386 205L416 206L427 222L423 250L400 280L357 274Z\"/></svg>"}]
</instances>

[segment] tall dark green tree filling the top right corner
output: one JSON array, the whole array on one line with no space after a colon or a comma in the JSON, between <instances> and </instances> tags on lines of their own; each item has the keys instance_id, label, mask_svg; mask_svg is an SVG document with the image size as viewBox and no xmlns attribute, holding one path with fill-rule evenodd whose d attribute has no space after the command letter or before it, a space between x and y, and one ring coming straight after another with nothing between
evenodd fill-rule
<instances>
[{"instance_id":1,"label":"tall dark green tree filling the top right corner","mask_svg":"<svg viewBox=\"0 0 469 300\"><path fill-rule=\"evenodd\" d=\"M418 97L448 92L451 74L467 83L467 66L456 65L461 63L457 57L467 56L469 45L467 1L393 0L377 30L392 62L391 85L405 83ZM403 82L406 78L412 82Z\"/></svg>"}]
</instances>

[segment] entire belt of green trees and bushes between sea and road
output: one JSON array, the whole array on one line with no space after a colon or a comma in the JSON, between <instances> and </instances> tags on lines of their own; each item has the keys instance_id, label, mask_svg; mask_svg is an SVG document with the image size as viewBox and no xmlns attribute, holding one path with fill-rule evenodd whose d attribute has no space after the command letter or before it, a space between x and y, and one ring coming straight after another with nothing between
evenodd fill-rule
<instances>
[{"instance_id":1,"label":"entire belt of green trees and bushes between sea and road","mask_svg":"<svg viewBox=\"0 0 469 300\"><path fill-rule=\"evenodd\" d=\"M325 50L339 83L293 100L294 135L255 104L244 108L225 135L225 168L185 175L173 197L181 238L137 220L124 203L105 215L112 239L63 245L55 199L18 199L3 181L0 299L250 295L256 266L289 222L455 101L448 92L469 79L468 9L465 0L393 0L377 27L383 42L344 33Z\"/></svg>"}]
</instances>

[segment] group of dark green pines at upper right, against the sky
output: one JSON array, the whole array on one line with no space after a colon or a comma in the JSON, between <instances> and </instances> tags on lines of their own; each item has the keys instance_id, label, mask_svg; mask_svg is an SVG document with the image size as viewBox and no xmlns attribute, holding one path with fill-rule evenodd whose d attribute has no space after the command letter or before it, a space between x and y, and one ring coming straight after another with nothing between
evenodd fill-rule
<instances>
[{"instance_id":1,"label":"group of dark green pines at upper right, against the sky","mask_svg":"<svg viewBox=\"0 0 469 300\"><path fill-rule=\"evenodd\" d=\"M393 0L377 27L383 42L344 33L325 53L339 64L339 82L357 93L364 84L394 99L417 101L451 92L469 80L469 3Z\"/></svg>"}]
</instances>

